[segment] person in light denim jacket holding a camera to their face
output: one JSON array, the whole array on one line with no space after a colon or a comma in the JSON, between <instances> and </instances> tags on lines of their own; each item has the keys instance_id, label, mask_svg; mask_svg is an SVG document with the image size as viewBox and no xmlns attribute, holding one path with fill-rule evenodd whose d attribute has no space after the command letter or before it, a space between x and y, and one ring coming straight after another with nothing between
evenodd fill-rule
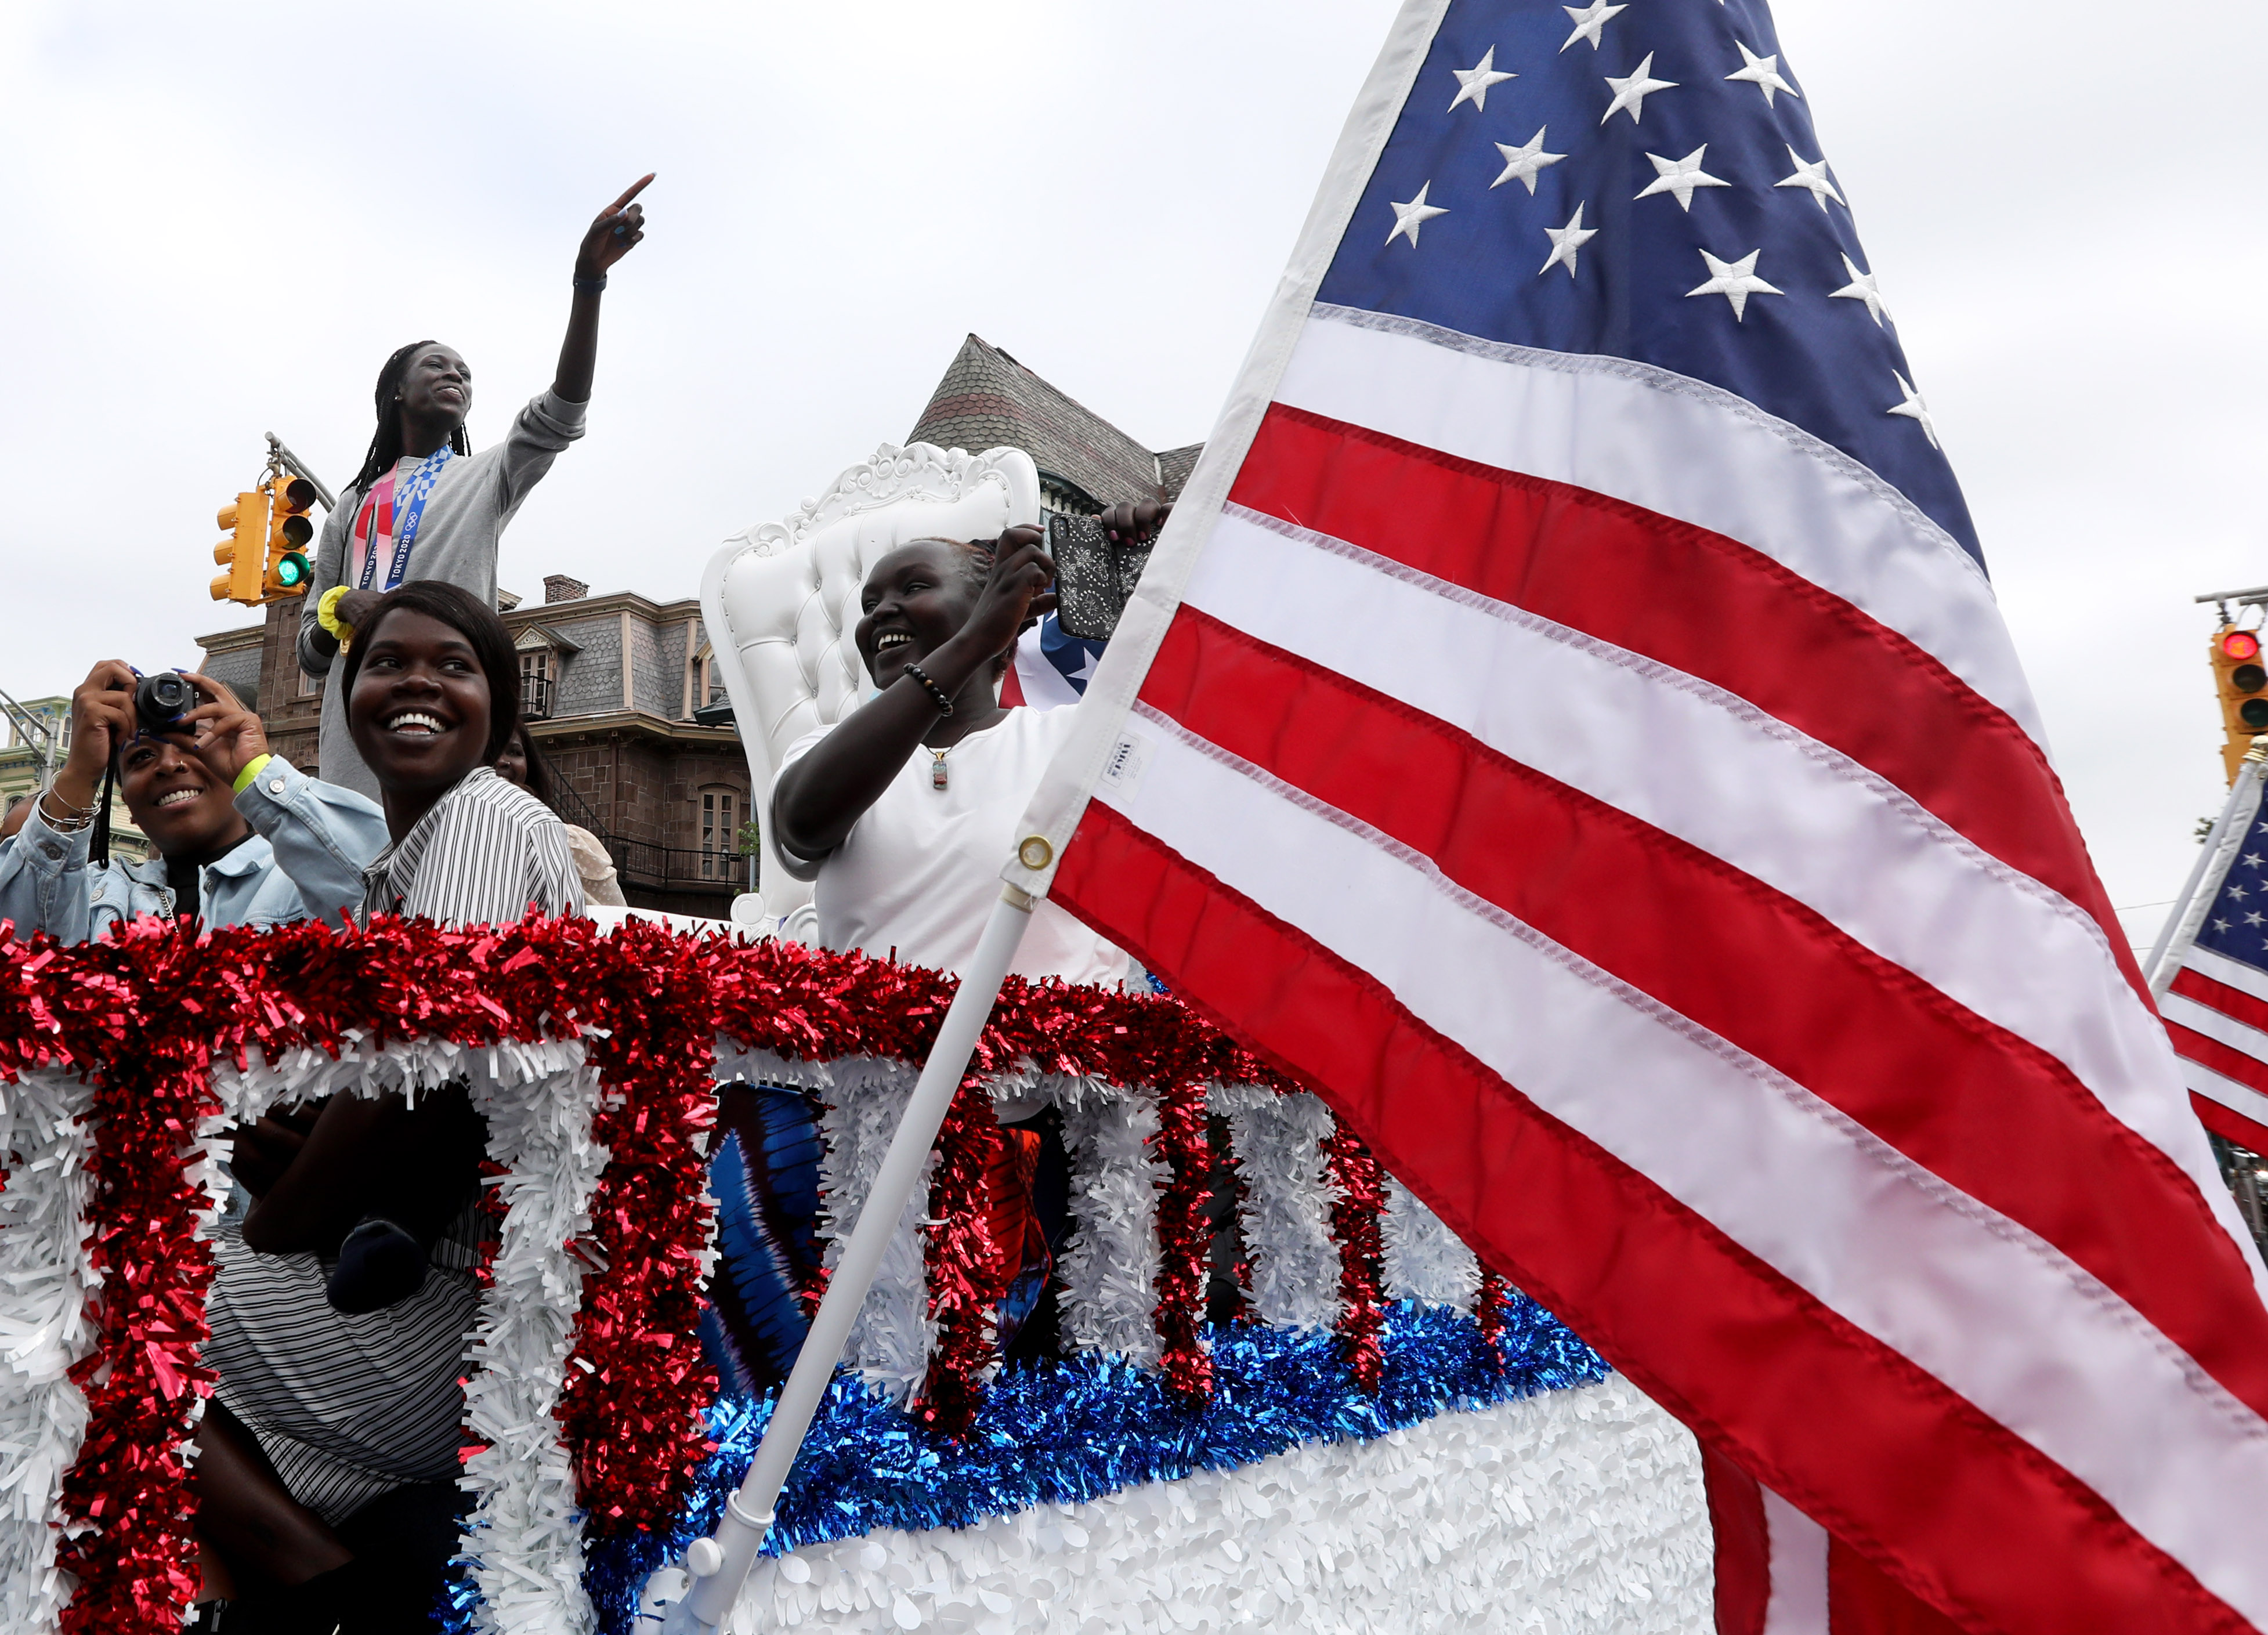
<instances>
[{"instance_id":1,"label":"person in light denim jacket holding a camera to their face","mask_svg":"<svg viewBox=\"0 0 2268 1635\"><path fill-rule=\"evenodd\" d=\"M70 696L70 755L0 846L0 921L66 943L141 914L342 925L386 844L379 807L272 757L261 719L206 676L179 676L191 708L172 721L138 712L150 680L107 658ZM111 771L150 862L91 862Z\"/></svg>"}]
</instances>

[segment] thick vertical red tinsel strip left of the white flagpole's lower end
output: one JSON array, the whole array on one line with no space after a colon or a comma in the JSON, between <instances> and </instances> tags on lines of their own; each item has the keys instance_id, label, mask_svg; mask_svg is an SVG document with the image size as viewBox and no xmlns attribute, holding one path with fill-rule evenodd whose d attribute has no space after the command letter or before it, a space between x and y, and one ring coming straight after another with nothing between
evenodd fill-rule
<instances>
[{"instance_id":1,"label":"thick vertical red tinsel strip left of the white flagpole's lower end","mask_svg":"<svg viewBox=\"0 0 2268 1635\"><path fill-rule=\"evenodd\" d=\"M590 1061L619 1091L592 1116L608 1163L585 1243L603 1270L583 1279L558 1404L576 1499L599 1537L669 1528L710 1454L687 1431L717 1399L699 1340L705 1136L717 1123L712 959L646 921L621 925L612 952L599 986L583 989L606 1027Z\"/></svg>"}]
</instances>

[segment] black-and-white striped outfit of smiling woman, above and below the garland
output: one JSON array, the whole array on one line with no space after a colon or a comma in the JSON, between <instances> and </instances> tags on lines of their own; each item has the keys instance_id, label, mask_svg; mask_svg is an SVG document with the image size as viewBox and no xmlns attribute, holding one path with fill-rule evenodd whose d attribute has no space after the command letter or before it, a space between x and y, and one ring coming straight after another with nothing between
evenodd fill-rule
<instances>
[{"instance_id":1,"label":"black-and-white striped outfit of smiling woman, above and below the garland","mask_svg":"<svg viewBox=\"0 0 2268 1635\"><path fill-rule=\"evenodd\" d=\"M513 923L528 905L581 914L583 880L558 816L488 766L363 871L365 918L488 925ZM424 1286L361 1318L324 1297L329 1261L247 1249L234 1222L215 1234L206 1358L220 1370L220 1401L252 1429L290 1494L327 1522L406 1483L456 1476L481 1227L467 1206L433 1247Z\"/></svg>"}]
</instances>

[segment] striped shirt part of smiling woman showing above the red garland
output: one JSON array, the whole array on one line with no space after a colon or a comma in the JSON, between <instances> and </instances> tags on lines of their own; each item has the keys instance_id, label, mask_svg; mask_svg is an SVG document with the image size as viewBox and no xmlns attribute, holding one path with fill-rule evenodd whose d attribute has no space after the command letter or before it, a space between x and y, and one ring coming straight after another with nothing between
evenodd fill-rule
<instances>
[{"instance_id":1,"label":"striped shirt part of smiling woman showing above the red garland","mask_svg":"<svg viewBox=\"0 0 2268 1635\"><path fill-rule=\"evenodd\" d=\"M465 773L363 871L363 918L510 925L528 905L581 914L583 875L567 850L567 825L488 766Z\"/></svg>"}]
</instances>

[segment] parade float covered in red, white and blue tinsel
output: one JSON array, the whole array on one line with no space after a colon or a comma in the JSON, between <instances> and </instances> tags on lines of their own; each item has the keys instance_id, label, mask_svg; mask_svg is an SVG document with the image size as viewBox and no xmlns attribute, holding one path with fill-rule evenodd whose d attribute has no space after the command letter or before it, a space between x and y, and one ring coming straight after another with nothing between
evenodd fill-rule
<instances>
[{"instance_id":1,"label":"parade float covered in red, white and blue tinsel","mask_svg":"<svg viewBox=\"0 0 2268 1635\"><path fill-rule=\"evenodd\" d=\"M646 923L0 941L0 1619L172 1630L195 1594L184 1442L227 1127L460 1077L497 1245L449 1624L635 1628L769 1413L703 1345L719 1213L764 1181L742 1152L712 1202L719 1079L814 1109L830 1243L950 993ZM1073 1154L1066 1345L1012 1367L996 1100L1055 1107ZM1207 1322L1218 1188L1238 1311ZM923 1202L730 1628L1706 1621L1687 1433L1175 1000L1012 984Z\"/></svg>"}]
</instances>

